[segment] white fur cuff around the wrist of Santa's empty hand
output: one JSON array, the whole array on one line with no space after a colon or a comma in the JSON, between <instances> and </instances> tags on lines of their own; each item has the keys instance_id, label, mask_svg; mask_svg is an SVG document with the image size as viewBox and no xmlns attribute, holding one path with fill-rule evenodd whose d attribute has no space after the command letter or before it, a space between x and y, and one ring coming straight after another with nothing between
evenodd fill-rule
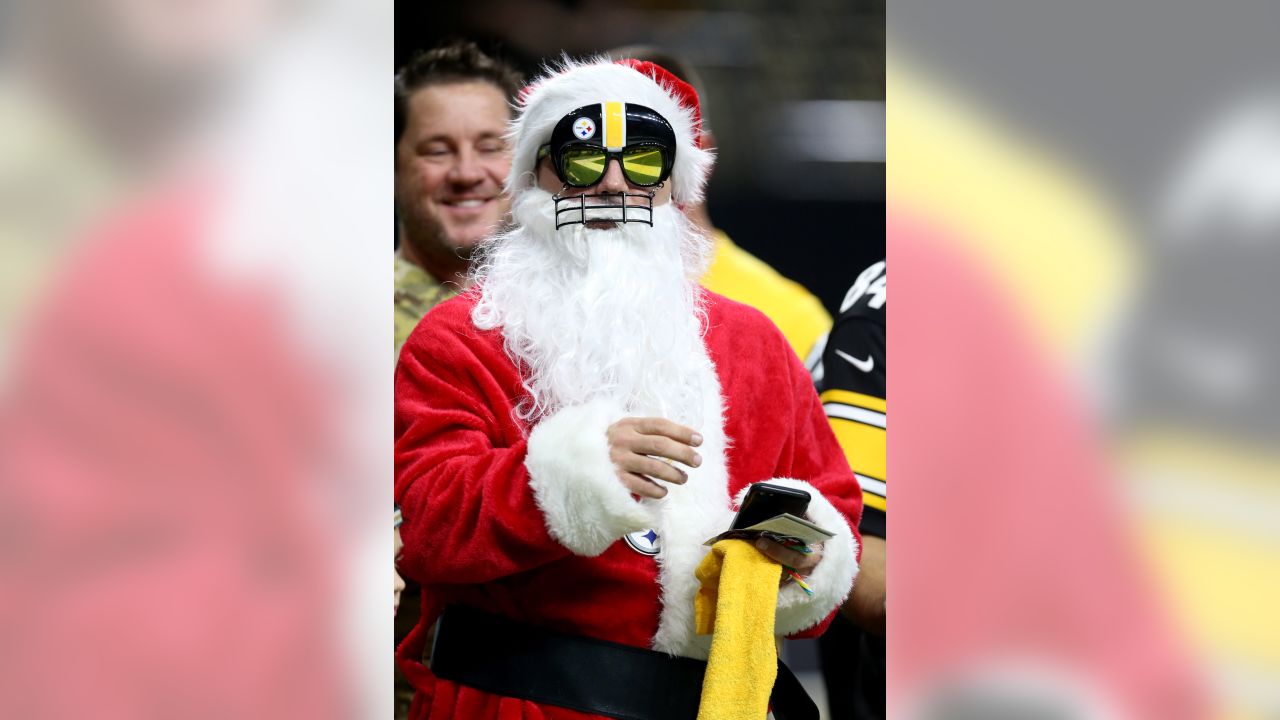
<instances>
[{"instance_id":1,"label":"white fur cuff around the wrist of Santa's empty hand","mask_svg":"<svg viewBox=\"0 0 1280 720\"><path fill-rule=\"evenodd\" d=\"M614 541L653 528L653 510L631 497L609 460L605 433L622 409L594 401L566 407L529 433L525 468L547 529L575 555L594 557Z\"/></svg>"}]
</instances>

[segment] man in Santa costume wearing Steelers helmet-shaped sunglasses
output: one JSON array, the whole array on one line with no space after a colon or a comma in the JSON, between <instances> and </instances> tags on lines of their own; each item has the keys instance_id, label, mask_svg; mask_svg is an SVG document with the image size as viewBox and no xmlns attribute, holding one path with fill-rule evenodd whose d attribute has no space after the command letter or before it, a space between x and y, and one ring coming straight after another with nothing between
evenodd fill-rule
<instances>
[{"instance_id":1,"label":"man in Santa costume wearing Steelers helmet-shaped sunglasses","mask_svg":"<svg viewBox=\"0 0 1280 720\"><path fill-rule=\"evenodd\" d=\"M820 634L856 574L858 484L778 329L696 284L709 241L680 208L713 158L691 87L566 61L511 141L513 227L396 375L411 717L692 717L704 542L751 483L808 491L836 537L758 547L812 588L780 585L774 632Z\"/></svg>"}]
</instances>

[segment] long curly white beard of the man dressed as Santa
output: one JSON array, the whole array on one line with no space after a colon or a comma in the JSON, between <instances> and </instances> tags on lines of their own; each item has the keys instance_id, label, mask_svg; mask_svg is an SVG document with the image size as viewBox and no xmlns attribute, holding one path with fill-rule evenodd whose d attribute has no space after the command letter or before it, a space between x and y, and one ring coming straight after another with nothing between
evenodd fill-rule
<instances>
[{"instance_id":1,"label":"long curly white beard of the man dressed as Santa","mask_svg":"<svg viewBox=\"0 0 1280 720\"><path fill-rule=\"evenodd\" d=\"M530 393L517 415L532 424L607 398L700 427L709 238L672 202L654 208L653 227L557 231L552 195L536 187L517 195L512 217L515 228L481 249L471 319L502 328Z\"/></svg>"}]
</instances>

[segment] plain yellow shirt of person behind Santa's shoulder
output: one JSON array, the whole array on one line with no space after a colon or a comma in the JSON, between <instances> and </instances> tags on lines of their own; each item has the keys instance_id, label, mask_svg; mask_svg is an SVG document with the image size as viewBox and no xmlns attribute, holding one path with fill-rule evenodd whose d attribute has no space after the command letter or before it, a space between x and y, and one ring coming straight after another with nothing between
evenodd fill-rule
<instances>
[{"instance_id":1,"label":"plain yellow shirt of person behind Santa's shoulder","mask_svg":"<svg viewBox=\"0 0 1280 720\"><path fill-rule=\"evenodd\" d=\"M803 360L813 343L831 329L826 307L804 286L733 245L723 232L714 231L712 236L716 255L703 275L703 287L764 313Z\"/></svg>"}]
</instances>

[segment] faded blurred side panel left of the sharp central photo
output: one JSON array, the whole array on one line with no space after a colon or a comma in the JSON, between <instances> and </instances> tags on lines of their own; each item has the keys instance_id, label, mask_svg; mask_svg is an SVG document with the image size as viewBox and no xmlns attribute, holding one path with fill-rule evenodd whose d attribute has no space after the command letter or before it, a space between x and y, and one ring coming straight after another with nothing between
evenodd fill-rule
<instances>
[{"instance_id":1,"label":"faded blurred side panel left of the sharp central photo","mask_svg":"<svg viewBox=\"0 0 1280 720\"><path fill-rule=\"evenodd\" d=\"M5 8L0 716L390 715L390 35Z\"/></svg>"}]
</instances>

